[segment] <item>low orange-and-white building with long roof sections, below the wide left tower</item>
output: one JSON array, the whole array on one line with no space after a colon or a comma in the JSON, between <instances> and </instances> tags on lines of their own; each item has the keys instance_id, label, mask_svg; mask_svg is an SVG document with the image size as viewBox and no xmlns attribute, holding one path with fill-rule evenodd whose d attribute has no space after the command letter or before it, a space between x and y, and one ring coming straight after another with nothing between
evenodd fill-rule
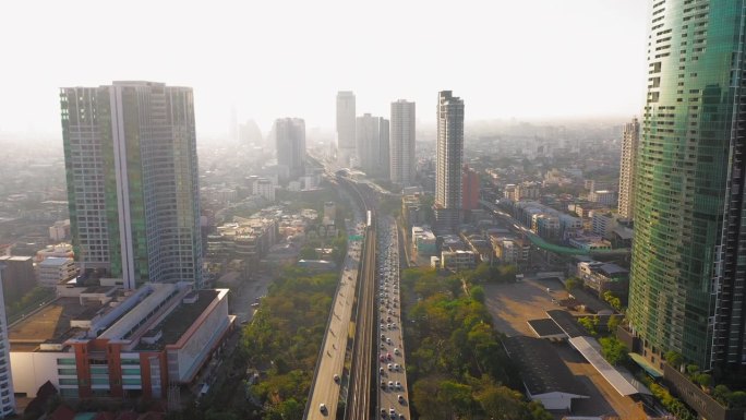
<instances>
[{"instance_id":1,"label":"low orange-and-white building with long roof sections, below the wide left tower","mask_svg":"<svg viewBox=\"0 0 746 420\"><path fill-rule=\"evenodd\" d=\"M233 326L227 295L179 283L58 298L9 328L15 393L49 381L63 398L165 398L202 382Z\"/></svg>"}]
</instances>

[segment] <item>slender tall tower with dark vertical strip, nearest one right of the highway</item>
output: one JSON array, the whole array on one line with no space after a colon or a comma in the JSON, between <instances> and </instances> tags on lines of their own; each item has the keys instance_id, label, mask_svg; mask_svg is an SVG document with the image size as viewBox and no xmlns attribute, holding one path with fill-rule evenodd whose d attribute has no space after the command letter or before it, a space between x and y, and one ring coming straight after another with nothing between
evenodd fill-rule
<instances>
[{"instance_id":1,"label":"slender tall tower with dark vertical strip, nearest one right of the highway","mask_svg":"<svg viewBox=\"0 0 746 420\"><path fill-rule=\"evenodd\" d=\"M461 217L464 100L442 91L437 96L437 161L435 167L435 230L453 233Z\"/></svg>"}]
</instances>

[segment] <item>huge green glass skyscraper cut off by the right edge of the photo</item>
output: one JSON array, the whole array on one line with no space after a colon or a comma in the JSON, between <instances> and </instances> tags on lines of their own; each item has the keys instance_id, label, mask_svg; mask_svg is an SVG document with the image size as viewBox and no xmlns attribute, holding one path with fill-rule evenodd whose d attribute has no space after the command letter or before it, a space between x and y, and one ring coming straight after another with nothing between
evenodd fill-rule
<instances>
[{"instance_id":1,"label":"huge green glass skyscraper cut off by the right edge of the photo","mask_svg":"<svg viewBox=\"0 0 746 420\"><path fill-rule=\"evenodd\" d=\"M628 317L655 361L743 373L745 80L741 1L652 8L635 169Z\"/></svg>"}]
</instances>

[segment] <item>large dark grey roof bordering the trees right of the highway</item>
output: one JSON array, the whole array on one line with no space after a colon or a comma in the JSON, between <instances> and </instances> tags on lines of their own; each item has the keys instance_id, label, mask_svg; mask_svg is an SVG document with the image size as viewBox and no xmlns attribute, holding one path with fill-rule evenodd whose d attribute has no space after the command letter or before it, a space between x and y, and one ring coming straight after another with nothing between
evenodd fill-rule
<instances>
[{"instance_id":1,"label":"large dark grey roof bordering the trees right of the highway","mask_svg":"<svg viewBox=\"0 0 746 420\"><path fill-rule=\"evenodd\" d=\"M575 379L549 341L515 336L505 338L503 345L510 360L518 364L520 377L531 395L556 392L588 397L586 388Z\"/></svg>"}]
</instances>

